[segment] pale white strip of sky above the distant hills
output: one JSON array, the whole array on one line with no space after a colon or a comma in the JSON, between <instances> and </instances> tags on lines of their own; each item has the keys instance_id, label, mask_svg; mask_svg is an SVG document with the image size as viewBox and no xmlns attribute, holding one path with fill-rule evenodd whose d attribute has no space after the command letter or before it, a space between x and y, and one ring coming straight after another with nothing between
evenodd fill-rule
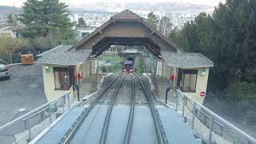
<instances>
[{"instance_id":1,"label":"pale white strip of sky above the distant hills","mask_svg":"<svg viewBox=\"0 0 256 144\"><path fill-rule=\"evenodd\" d=\"M61 2L66 2L70 6L79 6L83 3L90 2L189 2L194 4L206 4L217 6L219 2L225 0L60 0ZM0 0L1 6L22 6L22 3L26 0Z\"/></svg>"}]
</instances>

